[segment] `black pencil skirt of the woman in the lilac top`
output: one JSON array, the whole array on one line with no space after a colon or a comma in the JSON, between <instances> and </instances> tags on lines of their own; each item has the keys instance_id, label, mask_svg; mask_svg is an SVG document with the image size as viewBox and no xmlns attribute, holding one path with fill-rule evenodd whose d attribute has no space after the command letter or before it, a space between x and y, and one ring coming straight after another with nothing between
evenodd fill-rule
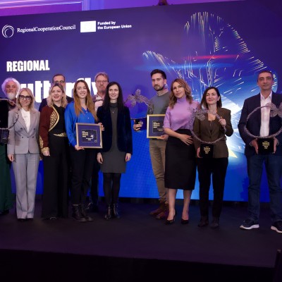
<instances>
[{"instance_id":1,"label":"black pencil skirt of the woman in the lilac top","mask_svg":"<svg viewBox=\"0 0 282 282\"><path fill-rule=\"evenodd\" d=\"M188 129L176 133L192 135ZM176 137L166 142L166 170L164 183L169 189L194 190L196 180L196 152L194 145L186 145Z\"/></svg>"}]
</instances>

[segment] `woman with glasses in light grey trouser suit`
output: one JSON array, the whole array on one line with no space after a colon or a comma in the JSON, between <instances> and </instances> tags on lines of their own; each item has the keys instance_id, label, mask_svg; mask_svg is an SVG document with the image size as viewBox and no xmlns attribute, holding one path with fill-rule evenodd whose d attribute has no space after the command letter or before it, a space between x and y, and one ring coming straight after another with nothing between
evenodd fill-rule
<instances>
[{"instance_id":1,"label":"woman with glasses in light grey trouser suit","mask_svg":"<svg viewBox=\"0 0 282 282\"><path fill-rule=\"evenodd\" d=\"M32 220L35 211L35 192L39 165L39 111L29 88L22 88L17 108L8 113L8 159L13 163L16 180L16 210L18 221Z\"/></svg>"}]
</instances>

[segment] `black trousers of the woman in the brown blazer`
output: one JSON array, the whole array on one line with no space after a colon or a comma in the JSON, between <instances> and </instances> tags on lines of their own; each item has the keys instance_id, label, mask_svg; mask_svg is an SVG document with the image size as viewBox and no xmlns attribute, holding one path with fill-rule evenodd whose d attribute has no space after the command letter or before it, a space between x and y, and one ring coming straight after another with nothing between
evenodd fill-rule
<instances>
[{"instance_id":1,"label":"black trousers of the woman in the brown blazer","mask_svg":"<svg viewBox=\"0 0 282 282\"><path fill-rule=\"evenodd\" d=\"M214 188L212 216L219 217L221 215L227 166L228 158L197 158L201 216L209 216L209 187L211 185L211 176L212 186Z\"/></svg>"}]
</instances>

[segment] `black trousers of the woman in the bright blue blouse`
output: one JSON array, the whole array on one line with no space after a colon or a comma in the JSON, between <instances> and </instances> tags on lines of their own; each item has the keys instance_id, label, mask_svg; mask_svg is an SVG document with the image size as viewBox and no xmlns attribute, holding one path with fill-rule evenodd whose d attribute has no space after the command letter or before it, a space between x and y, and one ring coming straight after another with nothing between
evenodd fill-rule
<instances>
[{"instance_id":1,"label":"black trousers of the woman in the bright blue blouse","mask_svg":"<svg viewBox=\"0 0 282 282\"><path fill-rule=\"evenodd\" d=\"M87 190L90 187L91 176L95 161L95 149L77 151L70 147L71 154L71 203L85 204Z\"/></svg>"}]
</instances>

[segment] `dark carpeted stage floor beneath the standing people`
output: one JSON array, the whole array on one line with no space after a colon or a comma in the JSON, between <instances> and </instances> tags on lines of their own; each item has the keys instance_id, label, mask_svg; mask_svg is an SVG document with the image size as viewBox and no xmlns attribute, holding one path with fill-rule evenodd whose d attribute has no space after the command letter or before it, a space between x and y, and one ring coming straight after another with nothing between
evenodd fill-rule
<instances>
[{"instance_id":1,"label":"dark carpeted stage floor beneath the standing people","mask_svg":"<svg viewBox=\"0 0 282 282\"><path fill-rule=\"evenodd\" d=\"M242 231L247 208L242 204L223 207L220 228L197 227L199 207L190 205L190 223L180 224L181 200L176 222L166 226L149 212L157 204L146 201L121 202L121 219L104 220L104 203L94 221L69 219L43 221L37 200L35 219L18 222L16 214L0 217L0 249L32 250L77 255L97 255L183 262L230 264L273 268L276 252L282 248L282 234L271 231L267 204L262 207L258 230Z\"/></svg>"}]
</instances>

